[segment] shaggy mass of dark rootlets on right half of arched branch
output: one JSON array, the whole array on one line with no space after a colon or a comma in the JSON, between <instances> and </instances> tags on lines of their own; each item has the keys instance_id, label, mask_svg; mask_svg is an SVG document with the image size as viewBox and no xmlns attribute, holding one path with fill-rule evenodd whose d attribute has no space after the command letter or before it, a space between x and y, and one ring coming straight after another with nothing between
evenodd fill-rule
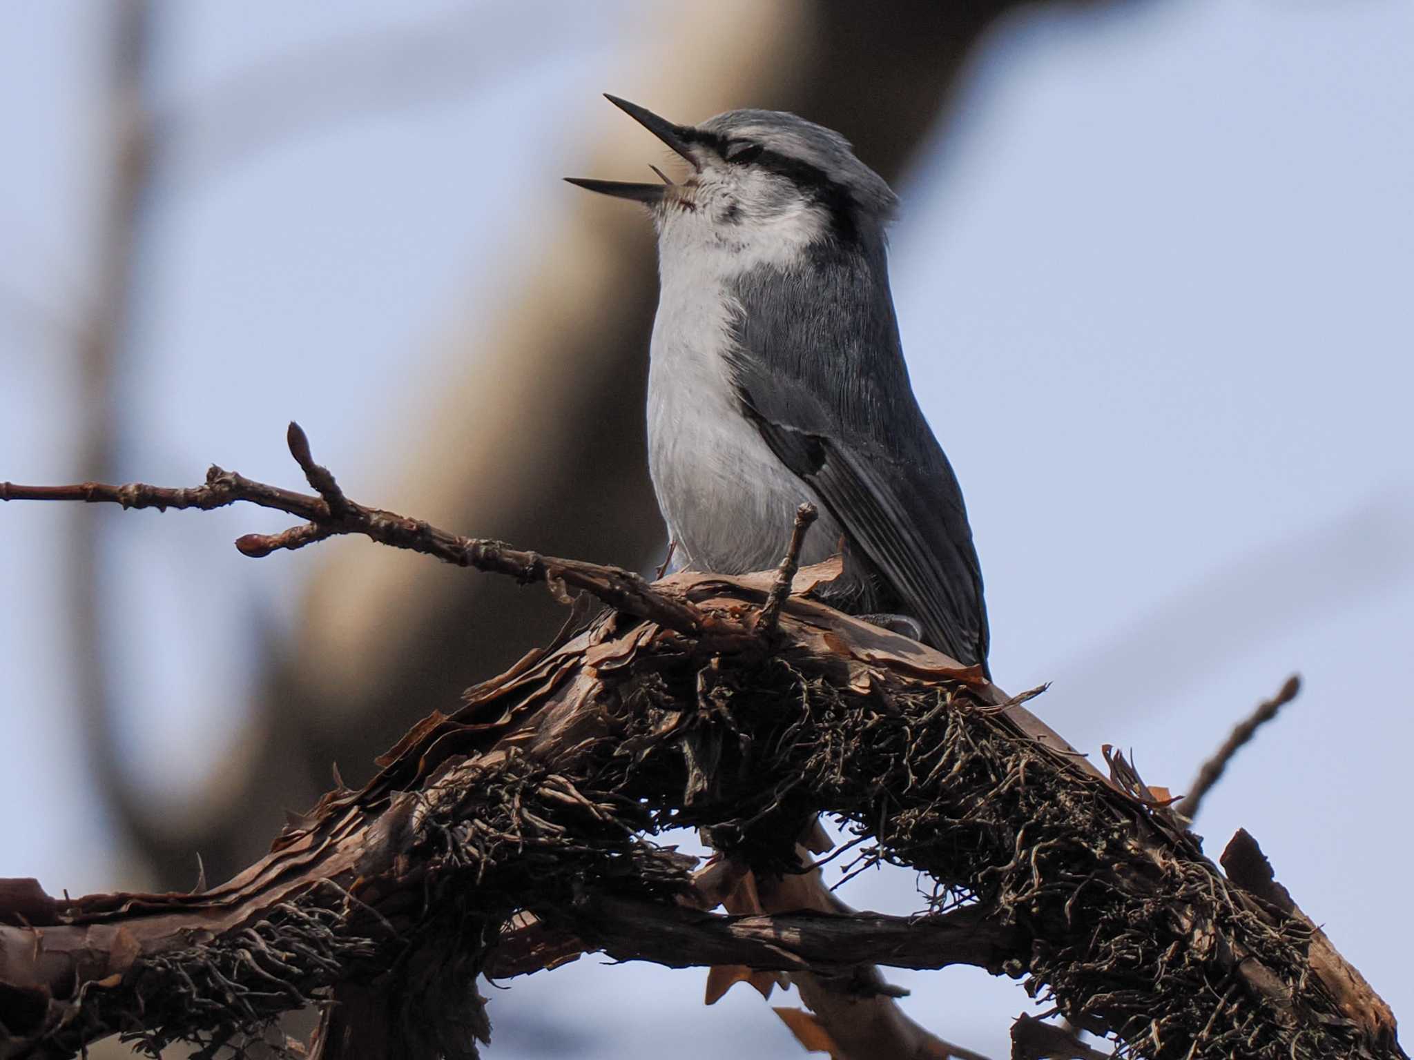
<instances>
[{"instance_id":1,"label":"shaggy mass of dark rootlets on right half of arched branch","mask_svg":"<svg viewBox=\"0 0 1414 1060\"><path fill-rule=\"evenodd\" d=\"M711 748L713 797L660 801L655 825L707 827L720 849L781 872L792 866L769 858L790 849L800 821L836 814L875 840L865 861L932 878L935 910L978 903L1019 929L1029 946L993 971L1024 978L1076 1025L1113 1033L1123 1053L1376 1054L1305 972L1304 924L1273 923L1196 840L1018 736L966 684L855 694L820 674L819 659L786 653L714 681L704 702L691 670L683 659L683 671L638 683L648 709L631 715L621 750L638 769L633 790L662 793ZM1295 972L1273 984L1290 1009L1253 995L1239 953Z\"/></svg>"}]
</instances>

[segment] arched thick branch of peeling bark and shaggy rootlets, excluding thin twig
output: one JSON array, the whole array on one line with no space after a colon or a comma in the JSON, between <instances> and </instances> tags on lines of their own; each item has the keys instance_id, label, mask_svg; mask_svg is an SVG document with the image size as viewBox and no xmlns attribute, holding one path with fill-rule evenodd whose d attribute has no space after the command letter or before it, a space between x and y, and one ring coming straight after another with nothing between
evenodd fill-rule
<instances>
[{"instance_id":1,"label":"arched thick branch of peeling bark and shaggy rootlets, excluding thin twig","mask_svg":"<svg viewBox=\"0 0 1414 1060\"><path fill-rule=\"evenodd\" d=\"M700 575L677 591L707 612L762 596ZM106 985L109 965L78 995L51 991L13 1040L64 1054L122 1030L211 1050L362 982L390 1037L471 1057L489 1030L475 977L505 957L516 914L592 947L587 895L690 893L691 859L645 837L696 825L756 873L797 872L782 852L829 813L872 840L863 864L935 881L935 913L967 905L1004 929L970 960L1126 1054L1403 1056L1393 1019L1353 1019L1311 972L1302 921L1229 883L1152 800L1038 738L977 674L799 599L775 636L721 654L604 616L416 726L366 787L325 796L225 890L57 903L45 930L117 926L133 953ZM233 905L185 946L143 933Z\"/></svg>"}]
</instances>

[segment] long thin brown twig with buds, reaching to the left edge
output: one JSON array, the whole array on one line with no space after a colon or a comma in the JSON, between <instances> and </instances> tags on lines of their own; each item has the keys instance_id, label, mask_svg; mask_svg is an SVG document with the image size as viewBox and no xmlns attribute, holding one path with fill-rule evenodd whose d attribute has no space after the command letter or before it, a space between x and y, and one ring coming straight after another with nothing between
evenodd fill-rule
<instances>
[{"instance_id":1,"label":"long thin brown twig with buds, reaching to the left edge","mask_svg":"<svg viewBox=\"0 0 1414 1060\"><path fill-rule=\"evenodd\" d=\"M0 482L0 500L82 500L85 503L113 503L124 509L156 507L201 509L225 507L238 502L286 512L307 520L277 534L245 534L236 548L259 558L279 550L303 548L339 534L362 534L392 548L406 548L433 555L457 567L508 574L522 582L550 582L583 589L612 608L649 619L680 633L701 636L711 626L720 640L752 635L724 616L708 616L687 601L676 599L650 587L642 577L618 567L605 567L580 560L560 560L533 551L512 548L503 541L462 537L420 520L356 505L344 496L334 475L314 462L310 442L298 424L290 424L287 435L290 452L300 464L320 496L296 493L280 486L255 482L233 471L215 465L206 472L201 486L174 489L130 482L113 486L105 482L81 482L72 486L23 486Z\"/></svg>"}]
</instances>

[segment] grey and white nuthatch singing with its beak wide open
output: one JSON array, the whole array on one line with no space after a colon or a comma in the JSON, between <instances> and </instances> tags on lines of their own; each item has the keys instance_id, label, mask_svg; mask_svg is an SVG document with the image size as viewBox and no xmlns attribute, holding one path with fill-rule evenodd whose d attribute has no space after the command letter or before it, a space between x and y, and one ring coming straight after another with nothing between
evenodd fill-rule
<instances>
[{"instance_id":1,"label":"grey and white nuthatch singing with its beak wide open","mask_svg":"<svg viewBox=\"0 0 1414 1060\"><path fill-rule=\"evenodd\" d=\"M848 140L781 110L676 124L605 93L687 164L674 181L580 177L658 232L648 455L673 568L836 551L817 595L987 673L981 567L957 476L919 408L888 280L896 196Z\"/></svg>"}]
</instances>

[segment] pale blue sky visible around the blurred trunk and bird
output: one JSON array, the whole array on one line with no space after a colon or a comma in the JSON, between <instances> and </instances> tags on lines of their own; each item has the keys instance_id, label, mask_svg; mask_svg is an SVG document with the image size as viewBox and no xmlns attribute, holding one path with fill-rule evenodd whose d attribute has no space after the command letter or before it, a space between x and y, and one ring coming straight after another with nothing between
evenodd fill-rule
<instances>
[{"instance_id":1,"label":"pale blue sky visible around the blurred trunk and bird","mask_svg":"<svg viewBox=\"0 0 1414 1060\"><path fill-rule=\"evenodd\" d=\"M602 208L559 177L617 117L597 93L631 95L609 79L646 8L587 7L163 6L158 96L174 113L273 57L448 10L465 8L447 35L468 61L348 120L284 116L293 131L269 140L187 129L144 246L124 478L185 483L218 461L286 481L291 417L355 482L393 473L362 427L416 408L409 365L441 370L441 339L489 312L505 256ZM0 14L0 478L74 476L65 329L92 285L100 11ZM485 44L550 11L534 61ZM1299 670L1301 698L1199 831L1216 852L1251 830L1396 1012L1414 1003L1408 940L1384 912L1410 869L1414 736L1411 45L1398 0L1011 20L901 182L892 243L915 387L967 493L998 680L1053 681L1036 708L1072 742L1133 748L1147 780L1182 789ZM0 773L0 875L79 892L134 881L65 772L81 759L52 587L74 517L0 510L0 731L35 749ZM161 765L168 797L239 748L262 628L291 620L318 563L229 547L266 526L250 512L109 522L105 577L133 602L113 666L156 688L122 702L124 755L134 775ZM880 872L846 897L905 912L912 886ZM891 978L922 1022L994 1053L1025 1006L980 974ZM649 1056L665 1035L683 1057L792 1054L755 995L704 1009L700 985L583 960L495 994L489 1056Z\"/></svg>"}]
</instances>

